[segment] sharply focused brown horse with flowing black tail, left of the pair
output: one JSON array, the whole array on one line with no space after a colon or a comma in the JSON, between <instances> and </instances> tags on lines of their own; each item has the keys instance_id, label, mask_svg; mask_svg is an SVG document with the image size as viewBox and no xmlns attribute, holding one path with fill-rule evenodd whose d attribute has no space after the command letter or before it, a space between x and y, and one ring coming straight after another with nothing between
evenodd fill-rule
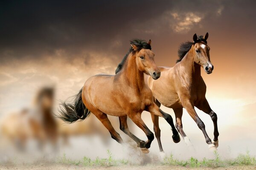
<instances>
[{"instance_id":1,"label":"sharply focused brown horse with flowing black tail, left of the pair","mask_svg":"<svg viewBox=\"0 0 256 170\"><path fill-rule=\"evenodd\" d=\"M148 153L154 134L141 119L141 113L149 111L152 115L166 119L172 127L173 140L179 142L180 137L172 116L161 111L154 103L152 92L145 84L144 73L153 79L160 77L160 70L151 51L151 40L148 43L143 40L132 40L131 48L123 59L122 70L116 75L98 74L87 79L84 87L76 95L74 104L62 102L58 117L65 122L75 122L85 119L91 112L108 129L111 137L122 144L122 138L114 130L107 115L119 116L120 129L130 136L144 153ZM143 130L148 141L144 142L130 132L127 116Z\"/></svg>"}]
</instances>

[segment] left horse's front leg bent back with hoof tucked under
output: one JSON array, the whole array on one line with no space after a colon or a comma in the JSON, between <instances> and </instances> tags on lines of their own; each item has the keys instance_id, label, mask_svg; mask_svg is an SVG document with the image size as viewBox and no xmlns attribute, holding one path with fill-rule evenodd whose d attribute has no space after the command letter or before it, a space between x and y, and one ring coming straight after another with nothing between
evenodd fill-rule
<instances>
[{"instance_id":1,"label":"left horse's front leg bent back with hoof tucked under","mask_svg":"<svg viewBox=\"0 0 256 170\"><path fill-rule=\"evenodd\" d=\"M148 140L146 142L142 142L142 144L140 144L140 147L148 149L151 145L151 142L154 140L154 134L148 129L148 127L141 119L141 113L128 113L128 116L146 134ZM143 153L148 153L146 150L142 151Z\"/></svg>"}]
</instances>

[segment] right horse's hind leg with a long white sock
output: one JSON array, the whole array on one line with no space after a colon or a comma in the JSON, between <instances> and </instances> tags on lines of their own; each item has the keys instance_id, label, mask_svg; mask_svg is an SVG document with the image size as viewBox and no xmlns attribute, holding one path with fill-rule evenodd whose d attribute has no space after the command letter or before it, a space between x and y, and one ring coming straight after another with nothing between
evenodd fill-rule
<instances>
[{"instance_id":1,"label":"right horse's hind leg with a long white sock","mask_svg":"<svg viewBox=\"0 0 256 170\"><path fill-rule=\"evenodd\" d=\"M180 135L183 137L184 142L187 144L187 146L192 146L192 143L190 142L189 137L187 137L185 132L183 131L182 120L181 120L182 114L183 114L183 108L175 108L175 109L173 108L173 111L176 117L175 127L177 128Z\"/></svg>"}]
</instances>

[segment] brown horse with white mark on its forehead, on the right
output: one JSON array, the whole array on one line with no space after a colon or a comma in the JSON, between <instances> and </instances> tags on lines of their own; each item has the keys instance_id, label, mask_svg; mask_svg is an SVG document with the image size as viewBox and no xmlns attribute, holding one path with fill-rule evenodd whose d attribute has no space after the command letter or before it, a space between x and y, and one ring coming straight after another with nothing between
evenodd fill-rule
<instances>
[{"instance_id":1,"label":"brown horse with white mark on its forehead, on the right","mask_svg":"<svg viewBox=\"0 0 256 170\"><path fill-rule=\"evenodd\" d=\"M180 45L178 51L179 59L174 67L159 67L161 77L157 80L148 77L148 86L151 89L156 104L172 108L176 116L176 127L187 145L191 145L189 138L182 128L183 108L189 113L198 127L204 133L207 144L212 150L218 147L218 126L217 115L210 108L206 94L206 85L201 77L201 67L207 74L211 74L213 65L210 61L209 46L207 45L208 33L205 36L194 34L194 42L185 42ZM211 140L206 133L204 122L195 112L197 107L201 111L209 114L214 125L214 138ZM158 117L152 114L152 121L160 151L163 151L160 141L160 129Z\"/></svg>"}]
</instances>

